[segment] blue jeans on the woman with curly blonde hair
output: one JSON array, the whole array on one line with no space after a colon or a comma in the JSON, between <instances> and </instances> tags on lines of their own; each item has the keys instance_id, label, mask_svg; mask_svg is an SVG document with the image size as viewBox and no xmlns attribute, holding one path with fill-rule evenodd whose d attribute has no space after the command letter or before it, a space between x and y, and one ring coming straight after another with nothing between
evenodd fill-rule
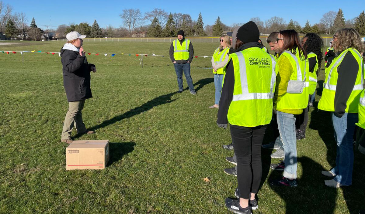
<instances>
[{"instance_id":1,"label":"blue jeans on the woman with curly blonde hair","mask_svg":"<svg viewBox=\"0 0 365 214\"><path fill-rule=\"evenodd\" d=\"M354 166L353 137L355 123L358 122L357 113L345 113L341 118L331 112L331 119L335 140L337 143L336 166L331 169L336 177L335 181L349 186L352 183L352 169Z\"/></svg>"}]
</instances>

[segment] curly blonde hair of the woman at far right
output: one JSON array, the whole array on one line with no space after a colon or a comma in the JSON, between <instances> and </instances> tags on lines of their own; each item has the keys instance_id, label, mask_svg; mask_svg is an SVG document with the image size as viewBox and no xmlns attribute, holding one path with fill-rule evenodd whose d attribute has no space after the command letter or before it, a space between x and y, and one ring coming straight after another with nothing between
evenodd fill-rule
<instances>
[{"instance_id":1,"label":"curly blonde hair of the woman at far right","mask_svg":"<svg viewBox=\"0 0 365 214\"><path fill-rule=\"evenodd\" d=\"M333 41L333 46L336 52L342 52L347 48L357 49L358 52L364 52L365 45L361 41L361 36L353 28L338 29L335 34L337 41Z\"/></svg>"}]
</instances>

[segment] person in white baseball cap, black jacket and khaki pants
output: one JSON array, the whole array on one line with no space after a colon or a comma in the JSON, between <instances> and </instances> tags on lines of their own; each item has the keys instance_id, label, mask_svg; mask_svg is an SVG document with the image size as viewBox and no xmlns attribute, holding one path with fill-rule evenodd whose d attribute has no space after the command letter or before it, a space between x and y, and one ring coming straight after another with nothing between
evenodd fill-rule
<instances>
[{"instance_id":1,"label":"person in white baseball cap, black jacket and khaki pants","mask_svg":"<svg viewBox=\"0 0 365 214\"><path fill-rule=\"evenodd\" d=\"M61 142L68 144L72 143L71 132L74 125L78 134L95 133L95 131L88 130L85 127L81 113L85 100L92 98L90 71L96 72L95 65L88 63L84 48L82 48L82 39L85 37L85 35L80 35L76 31L69 32L66 35L68 41L61 48L64 87L69 103L69 109L66 113L62 130Z\"/></svg>"}]
</instances>

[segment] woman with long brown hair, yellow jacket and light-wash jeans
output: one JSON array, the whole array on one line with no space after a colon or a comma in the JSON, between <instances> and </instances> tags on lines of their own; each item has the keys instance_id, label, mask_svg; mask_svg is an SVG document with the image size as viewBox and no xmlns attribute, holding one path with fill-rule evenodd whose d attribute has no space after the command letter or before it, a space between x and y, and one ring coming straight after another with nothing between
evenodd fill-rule
<instances>
[{"instance_id":1,"label":"woman with long brown hair, yellow jacket and light-wash jeans","mask_svg":"<svg viewBox=\"0 0 365 214\"><path fill-rule=\"evenodd\" d=\"M295 120L308 106L309 65L307 53L295 30L280 31L277 36L279 74L276 78L274 110L280 138L284 144L284 177L270 181L274 186L297 186L297 150Z\"/></svg>"}]
</instances>

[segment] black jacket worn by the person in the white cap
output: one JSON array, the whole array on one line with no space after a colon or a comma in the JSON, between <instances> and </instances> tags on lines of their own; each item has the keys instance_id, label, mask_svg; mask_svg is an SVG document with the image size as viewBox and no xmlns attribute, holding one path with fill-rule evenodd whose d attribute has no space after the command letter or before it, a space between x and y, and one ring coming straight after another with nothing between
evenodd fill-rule
<instances>
[{"instance_id":1,"label":"black jacket worn by the person in the white cap","mask_svg":"<svg viewBox=\"0 0 365 214\"><path fill-rule=\"evenodd\" d=\"M64 76L64 87L68 102L92 98L90 89L90 71L86 56L77 51L61 48L61 62Z\"/></svg>"}]
</instances>

